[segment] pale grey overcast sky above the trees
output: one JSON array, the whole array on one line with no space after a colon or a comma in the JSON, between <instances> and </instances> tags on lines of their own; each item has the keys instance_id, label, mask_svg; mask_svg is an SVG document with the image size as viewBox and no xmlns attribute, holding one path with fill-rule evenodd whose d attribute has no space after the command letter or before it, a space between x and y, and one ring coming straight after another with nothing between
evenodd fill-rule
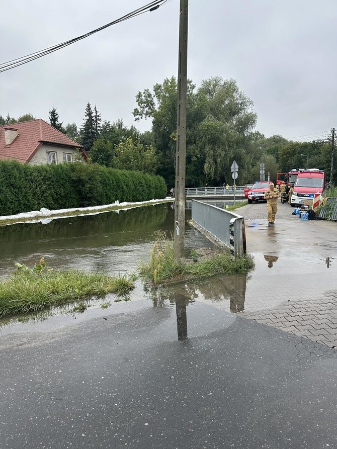
<instances>
[{"instance_id":1,"label":"pale grey overcast sky above the trees","mask_svg":"<svg viewBox=\"0 0 337 449\"><path fill-rule=\"evenodd\" d=\"M111 22L149 0L16 0L0 16L0 62ZM307 136L337 127L335 0L191 0L188 77L197 86L236 79L266 136ZM139 90L177 74L179 0L0 73L0 114L31 112L82 124L86 103L103 120L134 122ZM310 136L311 137L311 136ZM308 137L303 137L308 138Z\"/></svg>"}]
</instances>

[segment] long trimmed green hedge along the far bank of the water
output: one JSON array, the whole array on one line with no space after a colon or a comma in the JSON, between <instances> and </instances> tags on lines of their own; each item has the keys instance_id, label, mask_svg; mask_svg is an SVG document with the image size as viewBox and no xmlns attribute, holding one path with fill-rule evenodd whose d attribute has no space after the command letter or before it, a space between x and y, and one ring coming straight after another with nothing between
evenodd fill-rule
<instances>
[{"instance_id":1,"label":"long trimmed green hedge along the far bank of the water","mask_svg":"<svg viewBox=\"0 0 337 449\"><path fill-rule=\"evenodd\" d=\"M164 198L161 176L98 164L28 165L0 161L0 216Z\"/></svg>"}]
</instances>

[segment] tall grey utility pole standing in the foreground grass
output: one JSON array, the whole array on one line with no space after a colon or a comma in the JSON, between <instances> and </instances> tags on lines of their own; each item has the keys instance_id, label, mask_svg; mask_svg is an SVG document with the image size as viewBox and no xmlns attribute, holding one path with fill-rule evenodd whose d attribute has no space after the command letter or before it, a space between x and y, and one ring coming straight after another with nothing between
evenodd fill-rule
<instances>
[{"instance_id":1,"label":"tall grey utility pole standing in the foreground grass","mask_svg":"<svg viewBox=\"0 0 337 449\"><path fill-rule=\"evenodd\" d=\"M180 262L185 247L185 173L186 173L186 104L187 104L187 35L188 0L180 0L178 110L175 188L175 259Z\"/></svg>"}]
</instances>

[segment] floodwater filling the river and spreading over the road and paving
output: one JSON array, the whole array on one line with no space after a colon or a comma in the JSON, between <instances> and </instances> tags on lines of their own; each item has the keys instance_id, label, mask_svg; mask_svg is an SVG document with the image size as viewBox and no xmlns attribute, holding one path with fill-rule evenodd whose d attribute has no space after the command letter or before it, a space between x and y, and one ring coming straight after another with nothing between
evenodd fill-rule
<instances>
[{"instance_id":1,"label":"floodwater filling the river and spreading over the road and paving","mask_svg":"<svg viewBox=\"0 0 337 449\"><path fill-rule=\"evenodd\" d=\"M223 204L221 204L223 203ZM219 207L226 204L218 202ZM188 207L188 205L187 205ZM186 210L186 220L191 211ZM271 229L266 220L246 220L248 251L254 256L256 270L248 275L215 276L173 283L167 286L144 286L137 281L130 303L114 304L114 297L93 300L84 313L73 313L72 306L36 316L38 323L17 324L3 328L2 333L31 330L51 330L73 320L82 322L98 316L108 316L132 310L135 304L146 307L176 308L195 301L224 309L232 314L243 311L277 308L288 298L319 297L335 288L337 275L336 245L330 236L333 224L299 223L279 220ZM79 268L87 272L132 273L141 260L147 260L153 247L155 231L173 232L172 204L161 204L53 220L48 224L24 223L0 227L0 276L13 271L14 263L32 266L42 256L47 265L56 268ZM322 229L320 229L322 227ZM327 239L322 238L324 229ZM210 242L194 227L185 226L186 254L191 249L210 247ZM296 250L295 250L296 248ZM103 302L111 304L102 309ZM144 307L144 305L142 305ZM186 312L179 312L184 317ZM183 319L181 320L183 321ZM12 324L16 321L12 321ZM186 330L187 332L187 330ZM181 333L184 335L184 332ZM183 338L183 337L182 337Z\"/></svg>"}]
</instances>

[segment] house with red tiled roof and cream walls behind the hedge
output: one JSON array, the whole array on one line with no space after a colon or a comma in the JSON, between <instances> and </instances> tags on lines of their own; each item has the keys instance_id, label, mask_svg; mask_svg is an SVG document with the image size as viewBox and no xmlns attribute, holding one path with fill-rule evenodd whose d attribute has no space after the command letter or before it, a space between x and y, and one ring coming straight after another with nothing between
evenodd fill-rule
<instances>
[{"instance_id":1,"label":"house with red tiled roof and cream walls behind the hedge","mask_svg":"<svg viewBox=\"0 0 337 449\"><path fill-rule=\"evenodd\" d=\"M86 150L42 119L0 126L0 159L36 164L73 162Z\"/></svg>"}]
</instances>

